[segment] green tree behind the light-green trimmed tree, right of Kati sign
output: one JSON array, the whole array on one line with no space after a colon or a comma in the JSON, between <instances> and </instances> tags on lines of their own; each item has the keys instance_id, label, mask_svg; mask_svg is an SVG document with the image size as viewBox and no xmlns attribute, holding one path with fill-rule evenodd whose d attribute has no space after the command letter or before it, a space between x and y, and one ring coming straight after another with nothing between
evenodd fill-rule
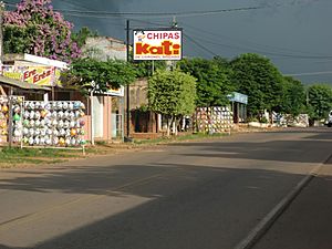
<instances>
[{"instance_id":1,"label":"green tree behind the light-green trimmed tree, right of Kati sign","mask_svg":"<svg viewBox=\"0 0 332 249\"><path fill-rule=\"evenodd\" d=\"M229 70L222 60L200 58L184 59L178 63L183 72L197 79L197 106L222 106L229 103L227 95L234 91Z\"/></svg>"}]
</instances>

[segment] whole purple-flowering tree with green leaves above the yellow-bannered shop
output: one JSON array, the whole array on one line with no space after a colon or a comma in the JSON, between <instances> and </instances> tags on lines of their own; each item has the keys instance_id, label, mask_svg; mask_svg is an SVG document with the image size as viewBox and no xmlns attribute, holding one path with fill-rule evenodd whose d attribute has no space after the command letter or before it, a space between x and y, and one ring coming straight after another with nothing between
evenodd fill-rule
<instances>
[{"instance_id":1,"label":"whole purple-flowering tree with green leaves above the yellow-bannered shop","mask_svg":"<svg viewBox=\"0 0 332 249\"><path fill-rule=\"evenodd\" d=\"M14 11L4 12L3 50L71 62L81 55L72 29L51 0L21 0Z\"/></svg>"}]
</instances>

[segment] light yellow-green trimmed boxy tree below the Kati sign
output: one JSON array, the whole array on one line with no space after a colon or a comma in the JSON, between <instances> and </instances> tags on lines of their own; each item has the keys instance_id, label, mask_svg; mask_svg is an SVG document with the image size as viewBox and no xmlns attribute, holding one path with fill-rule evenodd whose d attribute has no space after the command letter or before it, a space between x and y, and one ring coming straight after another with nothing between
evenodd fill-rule
<instances>
[{"instance_id":1,"label":"light yellow-green trimmed boxy tree below the Kati sign","mask_svg":"<svg viewBox=\"0 0 332 249\"><path fill-rule=\"evenodd\" d=\"M180 71L156 71L148 80L148 102L152 111L166 115L167 136L170 125L195 111L196 79ZM177 134L177 131L175 131Z\"/></svg>"}]
</instances>

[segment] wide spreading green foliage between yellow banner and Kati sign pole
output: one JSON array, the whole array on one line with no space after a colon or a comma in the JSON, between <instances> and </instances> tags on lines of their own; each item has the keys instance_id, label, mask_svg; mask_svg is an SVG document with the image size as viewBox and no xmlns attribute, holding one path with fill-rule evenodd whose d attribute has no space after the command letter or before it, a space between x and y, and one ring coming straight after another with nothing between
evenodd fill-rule
<instances>
[{"instance_id":1,"label":"wide spreading green foliage between yellow banner and Kati sign pole","mask_svg":"<svg viewBox=\"0 0 332 249\"><path fill-rule=\"evenodd\" d=\"M127 62L108 60L106 62L93 59L79 59L71 64L70 71L64 73L70 86L74 86L83 94L87 94L95 82L101 92L117 89L135 80L135 71Z\"/></svg>"}]
</instances>

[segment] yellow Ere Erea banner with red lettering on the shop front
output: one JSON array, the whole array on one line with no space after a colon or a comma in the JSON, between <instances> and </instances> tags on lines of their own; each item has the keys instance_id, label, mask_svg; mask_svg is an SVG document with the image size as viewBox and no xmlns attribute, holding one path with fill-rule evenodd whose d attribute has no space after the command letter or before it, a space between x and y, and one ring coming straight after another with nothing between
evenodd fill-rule
<instances>
[{"instance_id":1,"label":"yellow Ere Erea banner with red lettering on the shop front","mask_svg":"<svg viewBox=\"0 0 332 249\"><path fill-rule=\"evenodd\" d=\"M42 86L61 85L61 71L54 66L2 66L2 75Z\"/></svg>"}]
</instances>

